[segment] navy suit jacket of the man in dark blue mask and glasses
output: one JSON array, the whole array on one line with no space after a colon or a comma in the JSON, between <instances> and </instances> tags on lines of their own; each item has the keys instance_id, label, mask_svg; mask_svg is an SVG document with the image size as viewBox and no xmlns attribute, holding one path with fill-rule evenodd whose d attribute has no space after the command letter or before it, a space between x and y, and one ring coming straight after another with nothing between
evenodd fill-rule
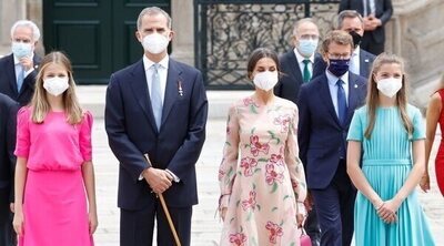
<instances>
[{"instance_id":1,"label":"navy suit jacket of the man in dark blue mask and glasses","mask_svg":"<svg viewBox=\"0 0 444 246\"><path fill-rule=\"evenodd\" d=\"M349 111L342 125L333 106L325 73L301 86L297 140L309 188L325 188L346 148L346 134L355 109L364 104L366 80L349 72ZM344 156L345 157L345 156Z\"/></svg>"}]
</instances>

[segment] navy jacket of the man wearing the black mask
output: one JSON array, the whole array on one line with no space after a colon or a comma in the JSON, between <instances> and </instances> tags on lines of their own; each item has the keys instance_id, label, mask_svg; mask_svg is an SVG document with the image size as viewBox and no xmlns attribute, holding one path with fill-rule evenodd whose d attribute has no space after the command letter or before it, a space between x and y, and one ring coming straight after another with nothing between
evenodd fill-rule
<instances>
[{"instance_id":1,"label":"navy jacket of the man wearing the black mask","mask_svg":"<svg viewBox=\"0 0 444 246\"><path fill-rule=\"evenodd\" d=\"M360 51L360 74L363 78L369 78L370 72L372 72L372 64L375 60L375 55L361 49ZM313 64L313 78L324 74L326 70L326 62L322 59L321 54L314 57Z\"/></svg>"}]
</instances>

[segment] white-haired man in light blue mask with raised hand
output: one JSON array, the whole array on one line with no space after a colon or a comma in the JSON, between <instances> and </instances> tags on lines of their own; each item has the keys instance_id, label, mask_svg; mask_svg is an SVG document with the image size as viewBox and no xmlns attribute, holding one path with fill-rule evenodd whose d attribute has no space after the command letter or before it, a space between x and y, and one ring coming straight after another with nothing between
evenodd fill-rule
<instances>
[{"instance_id":1,"label":"white-haired man in light blue mask with raised hand","mask_svg":"<svg viewBox=\"0 0 444 246\"><path fill-rule=\"evenodd\" d=\"M34 92L41 58L34 53L40 30L29 20L19 20L11 28L10 55L0 59L0 93L26 105Z\"/></svg>"}]
</instances>

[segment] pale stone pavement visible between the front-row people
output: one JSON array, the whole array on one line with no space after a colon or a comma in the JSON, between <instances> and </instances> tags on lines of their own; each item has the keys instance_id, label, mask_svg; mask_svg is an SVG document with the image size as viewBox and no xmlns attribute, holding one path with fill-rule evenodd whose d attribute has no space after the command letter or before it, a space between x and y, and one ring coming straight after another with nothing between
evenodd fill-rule
<instances>
[{"instance_id":1,"label":"pale stone pavement visible between the front-row people","mask_svg":"<svg viewBox=\"0 0 444 246\"><path fill-rule=\"evenodd\" d=\"M230 100L233 100L233 96L230 96ZM196 164L200 204L193 208L192 246L219 245L222 226L219 217L215 216L215 211L219 198L216 177L225 137L225 121L220 117L210 119L206 131L206 142ZM436 136L436 142L440 139L441 134ZM437 143L435 143L434 153L436 153L436 147ZM94 235L95 245L117 246L119 245L118 162L108 147L104 123L100 116L95 119L93 126L93 162L99 213L99 228ZM436 245L444 245L444 198L437 191L434 168L431 168L431 177L432 191L427 194L420 192L420 197L428 215Z\"/></svg>"}]
</instances>

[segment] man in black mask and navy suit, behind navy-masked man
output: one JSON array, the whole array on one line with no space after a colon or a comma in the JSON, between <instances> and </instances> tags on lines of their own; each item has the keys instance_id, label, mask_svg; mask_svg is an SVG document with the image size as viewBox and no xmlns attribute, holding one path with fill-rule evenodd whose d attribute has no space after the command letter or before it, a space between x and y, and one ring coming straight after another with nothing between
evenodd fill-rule
<instances>
[{"instance_id":1,"label":"man in black mask and navy suit, behind navy-masked man","mask_svg":"<svg viewBox=\"0 0 444 246\"><path fill-rule=\"evenodd\" d=\"M337 16L337 29L349 32L353 38L354 50L350 59L350 71L369 78L375 55L361 48L364 35L364 21L355 10L344 10ZM313 65L313 76L323 74L326 63L321 55L316 55Z\"/></svg>"}]
</instances>

